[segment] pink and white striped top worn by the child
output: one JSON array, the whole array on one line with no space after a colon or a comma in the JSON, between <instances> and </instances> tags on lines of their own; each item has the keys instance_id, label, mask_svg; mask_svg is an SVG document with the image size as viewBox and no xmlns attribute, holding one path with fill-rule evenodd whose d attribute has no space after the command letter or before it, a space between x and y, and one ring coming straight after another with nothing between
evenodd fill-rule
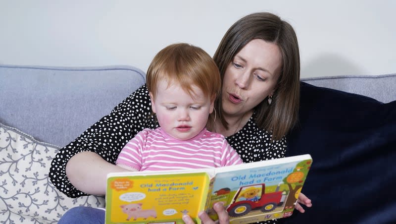
<instances>
[{"instance_id":1,"label":"pink and white striped top worn by the child","mask_svg":"<svg viewBox=\"0 0 396 224\"><path fill-rule=\"evenodd\" d=\"M131 139L116 164L137 170L199 169L242 164L223 135L204 128L190 140L181 141L161 127L146 128Z\"/></svg>"}]
</instances>

